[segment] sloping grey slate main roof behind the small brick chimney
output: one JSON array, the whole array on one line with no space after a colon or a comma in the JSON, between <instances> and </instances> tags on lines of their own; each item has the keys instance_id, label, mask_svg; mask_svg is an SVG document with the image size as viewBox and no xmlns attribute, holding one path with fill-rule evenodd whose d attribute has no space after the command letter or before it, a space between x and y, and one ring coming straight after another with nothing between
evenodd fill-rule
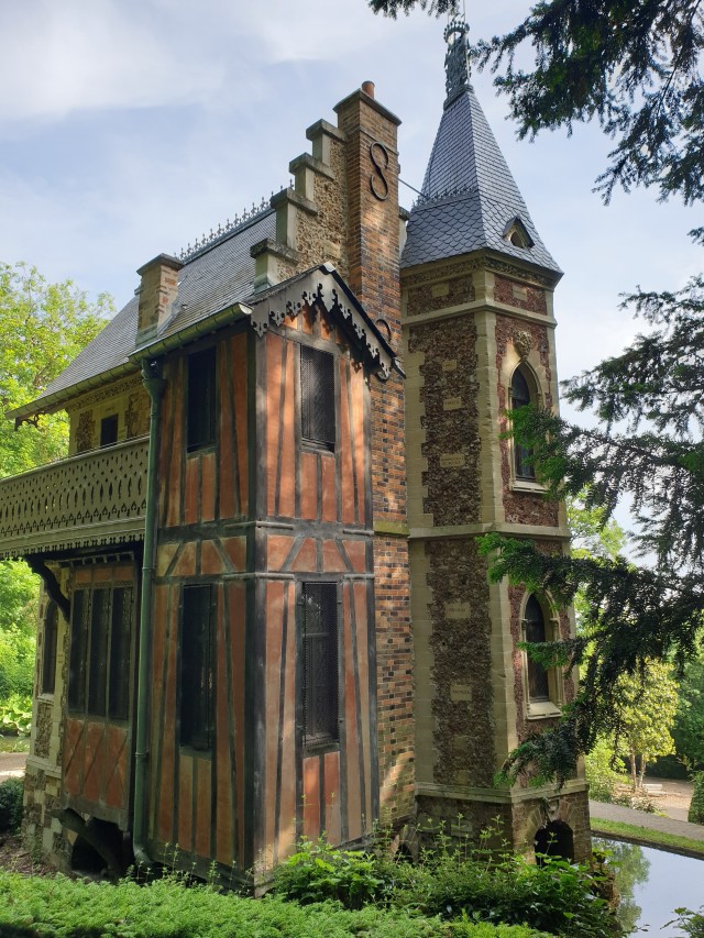
<instances>
[{"instance_id":1,"label":"sloping grey slate main roof behind the small brick chimney","mask_svg":"<svg viewBox=\"0 0 704 938\"><path fill-rule=\"evenodd\" d=\"M193 254L178 273L174 314L160 332L158 340L249 297L254 279L254 260L250 249L257 241L274 238L275 229L276 212L266 208ZM135 296L41 397L18 408L12 416L51 408L66 398L65 391L69 388L77 385L90 387L92 380L102 383L109 373L119 374L133 368L128 356L135 351L138 307L139 298Z\"/></svg>"}]
</instances>

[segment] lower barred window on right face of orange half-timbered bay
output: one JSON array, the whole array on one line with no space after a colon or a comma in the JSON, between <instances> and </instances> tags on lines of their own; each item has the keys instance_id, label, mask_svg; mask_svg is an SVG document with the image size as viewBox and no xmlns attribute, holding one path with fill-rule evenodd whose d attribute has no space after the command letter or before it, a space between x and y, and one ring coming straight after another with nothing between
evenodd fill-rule
<instances>
[{"instance_id":1,"label":"lower barred window on right face of orange half-timbered bay","mask_svg":"<svg viewBox=\"0 0 704 938\"><path fill-rule=\"evenodd\" d=\"M338 586L304 583L302 704L306 746L338 742Z\"/></svg>"}]
</instances>

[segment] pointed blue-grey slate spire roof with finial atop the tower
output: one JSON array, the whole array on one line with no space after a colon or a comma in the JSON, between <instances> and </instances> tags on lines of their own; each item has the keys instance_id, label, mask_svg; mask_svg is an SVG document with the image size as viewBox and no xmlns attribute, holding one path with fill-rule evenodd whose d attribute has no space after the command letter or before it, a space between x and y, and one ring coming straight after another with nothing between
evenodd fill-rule
<instances>
[{"instance_id":1,"label":"pointed blue-grey slate spire roof with finial atop the tower","mask_svg":"<svg viewBox=\"0 0 704 938\"><path fill-rule=\"evenodd\" d=\"M559 275L470 84L468 32L446 30L448 97L402 267L492 249Z\"/></svg>"}]
</instances>

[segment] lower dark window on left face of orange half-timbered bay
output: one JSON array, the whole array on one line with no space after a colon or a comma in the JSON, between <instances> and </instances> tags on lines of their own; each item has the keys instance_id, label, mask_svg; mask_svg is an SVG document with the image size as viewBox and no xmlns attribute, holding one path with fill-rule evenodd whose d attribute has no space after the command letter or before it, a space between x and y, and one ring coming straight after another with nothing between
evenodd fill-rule
<instances>
[{"instance_id":1,"label":"lower dark window on left face of orange half-timbered bay","mask_svg":"<svg viewBox=\"0 0 704 938\"><path fill-rule=\"evenodd\" d=\"M209 750L215 740L215 591L184 586L180 643L180 744Z\"/></svg>"}]
</instances>

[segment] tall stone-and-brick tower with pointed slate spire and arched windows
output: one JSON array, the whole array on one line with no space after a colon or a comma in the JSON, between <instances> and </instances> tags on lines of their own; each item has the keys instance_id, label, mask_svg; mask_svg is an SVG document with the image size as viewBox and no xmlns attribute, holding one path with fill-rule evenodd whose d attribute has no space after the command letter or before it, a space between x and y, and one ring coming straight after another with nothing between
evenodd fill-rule
<instances>
[{"instance_id":1,"label":"tall stone-and-brick tower with pointed slate spire and arched windows","mask_svg":"<svg viewBox=\"0 0 704 938\"><path fill-rule=\"evenodd\" d=\"M473 839L501 816L517 849L552 834L584 858L583 779L561 792L493 781L574 693L518 647L569 634L572 617L549 596L490 584L476 550L488 531L568 550L564 507L501 435L512 407L557 407L562 274L470 84L468 32L446 30L444 111L402 255L418 808Z\"/></svg>"}]
</instances>

